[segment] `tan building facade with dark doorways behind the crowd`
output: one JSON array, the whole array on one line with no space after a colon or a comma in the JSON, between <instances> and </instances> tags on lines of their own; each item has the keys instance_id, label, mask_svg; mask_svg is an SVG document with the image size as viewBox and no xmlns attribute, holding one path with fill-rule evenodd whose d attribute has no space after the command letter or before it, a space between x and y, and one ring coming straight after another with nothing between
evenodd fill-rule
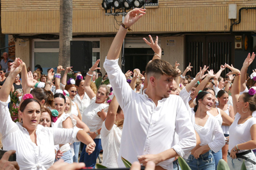
<instances>
[{"instance_id":1,"label":"tan building facade with dark doorways behind the crowd","mask_svg":"<svg viewBox=\"0 0 256 170\"><path fill-rule=\"evenodd\" d=\"M101 3L73 0L73 40L92 42L92 63L104 61L122 21L122 13L109 15ZM256 50L256 1L158 0L145 8L147 14L125 38L125 63L120 61L125 71L145 69L154 54L142 40L148 35L159 36L164 60L172 65L178 61L180 70L191 63L192 75L202 65L218 70L221 64L232 63L241 68L248 52ZM58 65L60 0L1 0L1 26L3 34L15 35L15 56L32 69L38 64Z\"/></svg>"}]
</instances>

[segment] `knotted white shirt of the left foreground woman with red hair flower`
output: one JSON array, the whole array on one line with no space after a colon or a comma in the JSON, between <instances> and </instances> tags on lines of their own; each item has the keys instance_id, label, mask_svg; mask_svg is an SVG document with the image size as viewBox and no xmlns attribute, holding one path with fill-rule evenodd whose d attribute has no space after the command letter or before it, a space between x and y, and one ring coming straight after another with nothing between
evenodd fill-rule
<instances>
[{"instance_id":1,"label":"knotted white shirt of the left foreground woman with red hair flower","mask_svg":"<svg viewBox=\"0 0 256 170\"><path fill-rule=\"evenodd\" d=\"M0 133L4 150L16 150L20 170L45 170L54 163L54 144L78 142L76 135L79 128L36 128L36 143L30 139L28 130L22 123L14 123L8 110L8 102L0 101Z\"/></svg>"}]
</instances>

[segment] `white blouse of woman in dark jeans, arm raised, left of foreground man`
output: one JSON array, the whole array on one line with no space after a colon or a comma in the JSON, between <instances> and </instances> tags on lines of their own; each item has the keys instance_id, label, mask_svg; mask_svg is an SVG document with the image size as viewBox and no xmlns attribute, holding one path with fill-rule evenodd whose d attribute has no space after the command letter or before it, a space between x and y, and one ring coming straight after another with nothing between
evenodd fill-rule
<instances>
[{"instance_id":1,"label":"white blouse of woman in dark jeans, arm raised, left of foreground man","mask_svg":"<svg viewBox=\"0 0 256 170\"><path fill-rule=\"evenodd\" d=\"M91 132L102 127L103 120L99 117L98 112L102 109L107 112L108 106L108 104L97 104L96 97L93 97L90 105L83 111L82 121L90 128ZM100 135L97 135L95 139L100 139Z\"/></svg>"}]
</instances>

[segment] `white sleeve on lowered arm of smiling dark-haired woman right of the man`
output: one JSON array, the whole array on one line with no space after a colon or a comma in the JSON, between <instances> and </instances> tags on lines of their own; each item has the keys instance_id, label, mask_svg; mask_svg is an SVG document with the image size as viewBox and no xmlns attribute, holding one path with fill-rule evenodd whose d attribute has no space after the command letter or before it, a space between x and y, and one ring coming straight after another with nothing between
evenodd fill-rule
<instances>
[{"instance_id":1,"label":"white sleeve on lowered arm of smiling dark-haired woman right of the man","mask_svg":"<svg viewBox=\"0 0 256 170\"><path fill-rule=\"evenodd\" d=\"M214 121L213 135L215 138L208 146L216 153L225 145L225 137L218 121Z\"/></svg>"}]
</instances>

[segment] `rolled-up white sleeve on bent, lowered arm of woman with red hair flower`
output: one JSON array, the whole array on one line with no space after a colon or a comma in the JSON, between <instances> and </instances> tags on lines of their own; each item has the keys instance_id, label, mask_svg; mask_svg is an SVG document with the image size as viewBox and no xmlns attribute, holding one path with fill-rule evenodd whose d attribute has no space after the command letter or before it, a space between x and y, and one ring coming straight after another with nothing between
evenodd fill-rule
<instances>
[{"instance_id":1,"label":"rolled-up white sleeve on bent, lowered arm of woman with red hair flower","mask_svg":"<svg viewBox=\"0 0 256 170\"><path fill-rule=\"evenodd\" d=\"M66 143L77 143L79 140L76 135L81 128L51 128L54 136L54 145L66 144Z\"/></svg>"}]
</instances>

